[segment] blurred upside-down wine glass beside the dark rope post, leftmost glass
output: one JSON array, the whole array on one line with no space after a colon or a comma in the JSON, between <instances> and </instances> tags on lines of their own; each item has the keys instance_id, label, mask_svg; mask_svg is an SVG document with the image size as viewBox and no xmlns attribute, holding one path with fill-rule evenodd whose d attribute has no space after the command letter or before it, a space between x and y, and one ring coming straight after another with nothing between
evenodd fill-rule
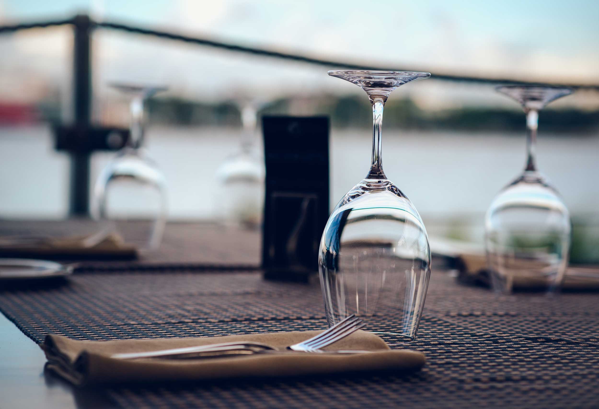
<instances>
[{"instance_id":1,"label":"blurred upside-down wine glass beside the dark rope post, leftmost glass","mask_svg":"<svg viewBox=\"0 0 599 409\"><path fill-rule=\"evenodd\" d=\"M159 247L167 221L164 175L143 149L144 103L163 87L114 84L132 95L131 137L102 170L93 190L92 216L141 251Z\"/></svg>"}]
</instances>

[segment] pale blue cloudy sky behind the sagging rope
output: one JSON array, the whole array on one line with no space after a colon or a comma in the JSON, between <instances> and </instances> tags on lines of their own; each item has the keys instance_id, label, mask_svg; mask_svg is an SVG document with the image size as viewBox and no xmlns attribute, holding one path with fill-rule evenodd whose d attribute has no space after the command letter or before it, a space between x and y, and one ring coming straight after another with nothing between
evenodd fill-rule
<instances>
[{"instance_id":1,"label":"pale blue cloudy sky behind the sagging rope","mask_svg":"<svg viewBox=\"0 0 599 409\"><path fill-rule=\"evenodd\" d=\"M89 12L96 19L167 29L229 43L320 58L477 76L599 83L599 2L563 1L118 1L0 0L0 22ZM41 73L68 82L65 29L0 38L0 76ZM167 83L198 99L235 92L350 94L326 68L240 56L102 30L94 37L94 82ZM66 73L66 74L65 74ZM31 77L31 75L30 75ZM2 80L9 89L13 79ZM488 89L446 82L410 85L407 93L434 107L484 100ZM242 91L239 91L239 90ZM4 91L4 94L8 91ZM403 91L402 91L403 92ZM480 94L480 95L479 95ZM434 95L434 98L431 98ZM596 97L596 95L595 95Z\"/></svg>"}]
</instances>

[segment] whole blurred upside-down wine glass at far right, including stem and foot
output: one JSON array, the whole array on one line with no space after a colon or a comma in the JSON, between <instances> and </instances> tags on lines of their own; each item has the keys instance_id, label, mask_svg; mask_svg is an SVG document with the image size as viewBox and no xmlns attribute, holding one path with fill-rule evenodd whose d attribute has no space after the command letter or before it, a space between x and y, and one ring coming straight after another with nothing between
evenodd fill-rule
<instances>
[{"instance_id":1,"label":"whole blurred upside-down wine glass at far right, including stem and foot","mask_svg":"<svg viewBox=\"0 0 599 409\"><path fill-rule=\"evenodd\" d=\"M500 86L518 101L527 118L524 172L503 188L485 216L489 272L496 291L554 291L564 279L570 250L570 213L536 165L539 111L569 88Z\"/></svg>"}]
</instances>

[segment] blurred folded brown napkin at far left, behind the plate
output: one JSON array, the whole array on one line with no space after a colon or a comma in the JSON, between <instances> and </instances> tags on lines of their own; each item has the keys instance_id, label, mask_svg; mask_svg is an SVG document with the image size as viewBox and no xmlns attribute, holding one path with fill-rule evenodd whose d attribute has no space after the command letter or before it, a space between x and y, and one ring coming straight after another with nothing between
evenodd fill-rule
<instances>
[{"instance_id":1,"label":"blurred folded brown napkin at far left, behind the plate","mask_svg":"<svg viewBox=\"0 0 599 409\"><path fill-rule=\"evenodd\" d=\"M135 246L123 242L118 234L105 234L97 240L92 236L48 237L38 240L14 240L13 237L0 237L2 257L113 257L136 258Z\"/></svg>"}]
</instances>

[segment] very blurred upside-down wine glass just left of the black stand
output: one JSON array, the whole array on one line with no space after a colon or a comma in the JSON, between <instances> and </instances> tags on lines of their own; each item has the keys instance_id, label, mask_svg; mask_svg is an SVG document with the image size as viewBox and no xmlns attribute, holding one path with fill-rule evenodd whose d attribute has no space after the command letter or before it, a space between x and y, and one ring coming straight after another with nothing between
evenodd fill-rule
<instances>
[{"instance_id":1,"label":"very blurred upside-down wine glass just left of the black stand","mask_svg":"<svg viewBox=\"0 0 599 409\"><path fill-rule=\"evenodd\" d=\"M220 188L216 196L217 219L225 225L257 228L264 209L264 158L256 148L258 112L264 103L240 103L242 135L238 152L225 158L216 171Z\"/></svg>"}]
</instances>

